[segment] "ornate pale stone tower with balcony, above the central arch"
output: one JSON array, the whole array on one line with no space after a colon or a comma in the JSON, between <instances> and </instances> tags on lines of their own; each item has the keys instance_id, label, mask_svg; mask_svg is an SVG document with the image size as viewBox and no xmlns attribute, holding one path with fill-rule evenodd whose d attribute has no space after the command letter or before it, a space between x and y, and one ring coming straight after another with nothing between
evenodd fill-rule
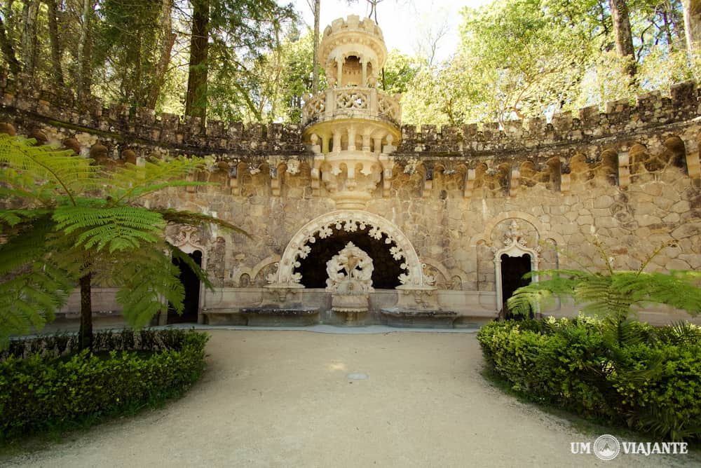
<instances>
[{"instance_id":1,"label":"ornate pale stone tower with balcony, above the central arch","mask_svg":"<svg viewBox=\"0 0 701 468\"><path fill-rule=\"evenodd\" d=\"M314 152L312 188L321 184L339 209L363 209L378 184L388 195L401 137L399 95L376 88L387 58L381 29L369 18L339 18L319 48L329 88L306 96L304 142Z\"/></svg>"}]
</instances>

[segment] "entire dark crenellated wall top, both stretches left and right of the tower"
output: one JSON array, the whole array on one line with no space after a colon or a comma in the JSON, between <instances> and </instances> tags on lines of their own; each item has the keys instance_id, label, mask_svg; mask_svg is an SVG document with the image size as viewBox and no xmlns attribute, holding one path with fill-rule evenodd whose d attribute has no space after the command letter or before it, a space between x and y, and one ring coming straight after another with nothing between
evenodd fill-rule
<instances>
[{"instance_id":1,"label":"entire dark crenellated wall top, both stretches left and right of the tower","mask_svg":"<svg viewBox=\"0 0 701 468\"><path fill-rule=\"evenodd\" d=\"M22 83L22 85L18 85ZM673 85L669 97L650 92L636 104L615 101L578 112L555 114L526 121L468 125L402 125L401 146L396 156L471 157L521 154L565 145L612 143L663 128L679 127L699 116L698 89L694 81ZM0 114L8 123L25 130L41 123L67 132L86 132L98 139L160 146L188 154L226 153L236 156L290 156L311 154L302 140L299 124L247 124L207 121L199 118L157 114L151 109L130 109L125 104L104 104L91 98L76 102L73 92L22 76L8 79L0 71ZM15 125L16 126L16 125ZM29 133L25 131L24 133Z\"/></svg>"}]
</instances>

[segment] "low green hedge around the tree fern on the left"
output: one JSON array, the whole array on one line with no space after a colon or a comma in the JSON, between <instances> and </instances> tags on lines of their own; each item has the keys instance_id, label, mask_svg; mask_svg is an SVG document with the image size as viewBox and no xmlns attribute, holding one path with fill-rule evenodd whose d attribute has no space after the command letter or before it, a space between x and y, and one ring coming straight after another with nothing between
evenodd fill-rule
<instances>
[{"instance_id":1,"label":"low green hedge around the tree fern on the left","mask_svg":"<svg viewBox=\"0 0 701 468\"><path fill-rule=\"evenodd\" d=\"M67 427L175 397L204 370L206 333L147 331L144 339L128 332L125 336L136 339L126 341L122 333L112 335L132 348L143 346L139 351L100 355L86 350L60 356L47 352L46 342L41 347L30 341L27 347L34 345L43 352L25 359L9 355L0 362L0 439Z\"/></svg>"}]
</instances>

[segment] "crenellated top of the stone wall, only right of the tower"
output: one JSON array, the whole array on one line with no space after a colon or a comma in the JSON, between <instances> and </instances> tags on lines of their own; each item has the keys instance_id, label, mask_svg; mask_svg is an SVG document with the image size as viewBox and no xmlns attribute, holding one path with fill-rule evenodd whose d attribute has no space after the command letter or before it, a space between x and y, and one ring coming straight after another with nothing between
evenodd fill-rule
<instances>
[{"instance_id":1,"label":"crenellated top of the stone wall, only right of the tower","mask_svg":"<svg viewBox=\"0 0 701 468\"><path fill-rule=\"evenodd\" d=\"M489 153L524 153L569 144L634 139L641 132L683 125L699 116L699 93L695 81L673 85L669 97L659 91L589 106L576 112L556 113L552 120L530 118L499 123L468 125L402 125L402 144L397 154L416 156L481 156Z\"/></svg>"}]
</instances>

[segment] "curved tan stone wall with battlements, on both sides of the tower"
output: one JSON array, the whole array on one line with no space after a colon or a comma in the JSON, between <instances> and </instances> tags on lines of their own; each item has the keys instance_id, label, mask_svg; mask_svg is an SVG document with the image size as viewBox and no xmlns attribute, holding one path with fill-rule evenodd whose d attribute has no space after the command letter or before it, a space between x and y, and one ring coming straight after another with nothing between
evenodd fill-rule
<instances>
[{"instance_id":1,"label":"curved tan stone wall with battlements, on both sides of the tower","mask_svg":"<svg viewBox=\"0 0 701 468\"><path fill-rule=\"evenodd\" d=\"M297 125L215 121L203 127L196 119L97 100L75 106L71 96L29 78L19 87L0 74L0 127L11 130L10 124L21 135L62 144L104 165L150 156L215 156L215 165L198 175L214 185L149 200L215 212L253 234L198 233L216 285L201 298L204 312L264 303L266 278L287 258L290 240L335 209L327 188L312 177L313 152L302 144ZM650 268L701 269L698 106L696 85L688 82L672 88L669 97L651 93L634 106L614 102L604 113L587 108L556 115L551 123L440 131L404 125L394 163L383 170L365 212L401 231L416 253L413 271L426 263L421 274L434 277L442 306L468 322L496 315L494 252L505 247L512 220L531 229L524 230L529 246L540 243L541 268L596 263L590 243L595 234L610 247L616 268L639 268L667 242L672 245ZM327 307L318 291L295 297ZM377 291L371 307L392 301L389 291ZM556 313L571 310L563 306ZM662 312L642 316L656 322L676 318Z\"/></svg>"}]
</instances>

